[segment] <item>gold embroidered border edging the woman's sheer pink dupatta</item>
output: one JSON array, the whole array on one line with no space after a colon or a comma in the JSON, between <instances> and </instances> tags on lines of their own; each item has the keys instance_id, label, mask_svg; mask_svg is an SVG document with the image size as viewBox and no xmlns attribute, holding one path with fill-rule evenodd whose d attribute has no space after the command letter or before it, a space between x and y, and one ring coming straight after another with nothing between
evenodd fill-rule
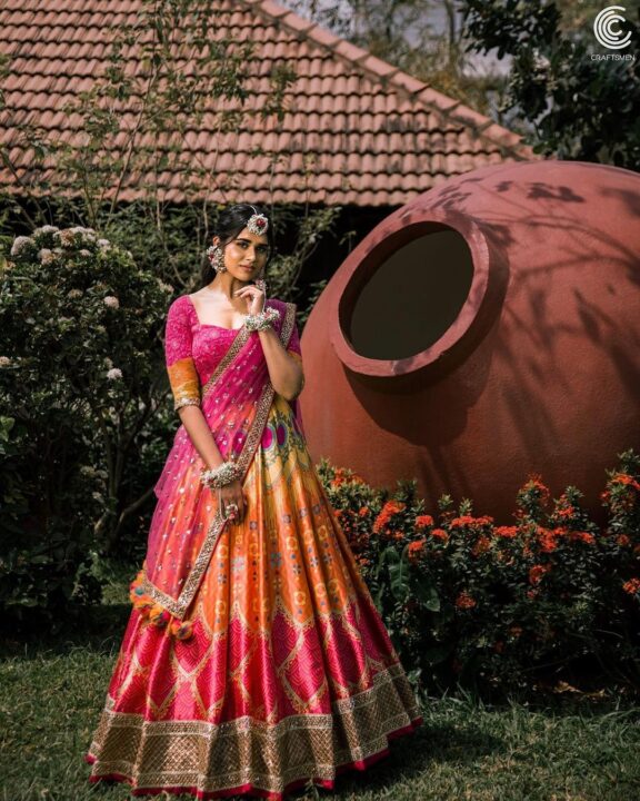
<instances>
[{"instance_id":1,"label":"gold embroidered border edging the woman's sheer pink dupatta","mask_svg":"<svg viewBox=\"0 0 640 801\"><path fill-rule=\"evenodd\" d=\"M280 332L280 342L284 347L287 347L287 345L289 344L291 334L293 333L294 323L296 305L287 304L284 322ZM242 328L238 333L238 336L236 336L231 346L229 347L229 350L224 354L222 360L202 388L202 397L204 397L206 394L212 390L213 386L216 385L222 373L236 358L237 354L240 352L240 348L249 338L249 335L250 332L244 326L242 326ZM267 417L269 416L269 409L271 408L271 403L273 402L274 394L276 390L273 389L271 382L267 380L260 395L260 399L258 400L258 408L256 411L253 424L251 425L249 435L244 441L244 446L242 447L242 451L237 459L237 464L241 467L243 476L249 468L258 443L260 442L260 437L262 436L262 432L264 431L264 424L267 423ZM211 554L216 548L216 544L218 543L224 523L227 523L227 521L222 517L220 510L218 508L216 511L213 522L209 526L209 531L207 532L207 536L204 537L202 547L198 553L196 562L193 563L193 567L187 576L187 581L184 582L184 586L182 587L182 591L178 599L174 599L171 595L163 593L149 581L149 578L147 577L147 572L144 571L143 573L141 582L141 587L143 589L143 591L149 594L157 603L161 604L168 612L170 612L172 615L180 620L184 617L184 613L189 609L189 604L196 595L196 592L200 585L202 576L204 575L204 571L207 570L207 565L209 564Z\"/></svg>"}]
</instances>

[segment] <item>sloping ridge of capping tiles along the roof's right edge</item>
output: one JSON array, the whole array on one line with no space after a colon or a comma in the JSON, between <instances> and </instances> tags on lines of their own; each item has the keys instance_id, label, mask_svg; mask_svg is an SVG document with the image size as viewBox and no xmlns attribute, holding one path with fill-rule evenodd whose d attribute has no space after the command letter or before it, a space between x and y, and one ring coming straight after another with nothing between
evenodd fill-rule
<instances>
[{"instance_id":1,"label":"sloping ridge of capping tiles along the roof's right edge","mask_svg":"<svg viewBox=\"0 0 640 801\"><path fill-rule=\"evenodd\" d=\"M392 83L411 100L420 100L430 110L440 113L444 119L457 121L473 128L478 136L500 148L511 151L510 155L522 156L518 150L530 149L522 140L522 137L508 128L503 128L491 117L474 111L461 100L447 97L442 92L431 88L429 83L410 76L399 67L373 56L368 50L352 44L347 39L331 33L317 22L306 20L291 9L279 6L273 0L240 0L241 4L259 10L266 17L284 24L298 37L303 36L314 43L339 56L343 61L357 65L364 72L369 72L378 80Z\"/></svg>"}]
</instances>

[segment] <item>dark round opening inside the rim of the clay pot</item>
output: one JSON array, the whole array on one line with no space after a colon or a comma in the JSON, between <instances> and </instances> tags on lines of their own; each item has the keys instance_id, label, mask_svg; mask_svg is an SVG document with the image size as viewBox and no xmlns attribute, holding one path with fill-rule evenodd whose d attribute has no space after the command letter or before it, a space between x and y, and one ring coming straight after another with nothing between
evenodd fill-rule
<instances>
[{"instance_id":1,"label":"dark round opening inside the rim of the clay pot","mask_svg":"<svg viewBox=\"0 0 640 801\"><path fill-rule=\"evenodd\" d=\"M458 318L473 260L464 237L439 226L367 271L344 333L360 356L403 359L431 347Z\"/></svg>"}]
</instances>

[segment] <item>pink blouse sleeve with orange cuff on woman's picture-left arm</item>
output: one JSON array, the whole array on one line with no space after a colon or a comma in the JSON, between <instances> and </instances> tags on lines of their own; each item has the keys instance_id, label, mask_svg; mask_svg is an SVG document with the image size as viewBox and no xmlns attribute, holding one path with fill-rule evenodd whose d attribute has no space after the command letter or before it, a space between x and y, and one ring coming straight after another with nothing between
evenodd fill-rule
<instances>
[{"instance_id":1,"label":"pink blouse sleeve with orange cuff on woman's picture-left arm","mask_svg":"<svg viewBox=\"0 0 640 801\"><path fill-rule=\"evenodd\" d=\"M164 356L173 408L200 406L200 379L191 352L192 333L186 297L174 300L167 314Z\"/></svg>"}]
</instances>

